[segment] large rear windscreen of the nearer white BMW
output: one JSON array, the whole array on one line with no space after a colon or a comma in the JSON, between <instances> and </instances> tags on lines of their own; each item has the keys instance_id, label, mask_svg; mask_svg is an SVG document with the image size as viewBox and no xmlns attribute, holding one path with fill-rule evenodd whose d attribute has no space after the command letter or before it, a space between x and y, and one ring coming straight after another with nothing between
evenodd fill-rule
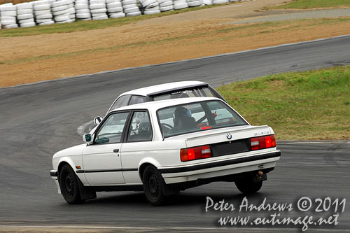
<instances>
[{"instance_id":1,"label":"large rear windscreen of the nearer white BMW","mask_svg":"<svg viewBox=\"0 0 350 233\"><path fill-rule=\"evenodd\" d=\"M222 101L202 101L161 108L157 112L164 138L221 127L248 125Z\"/></svg>"}]
</instances>

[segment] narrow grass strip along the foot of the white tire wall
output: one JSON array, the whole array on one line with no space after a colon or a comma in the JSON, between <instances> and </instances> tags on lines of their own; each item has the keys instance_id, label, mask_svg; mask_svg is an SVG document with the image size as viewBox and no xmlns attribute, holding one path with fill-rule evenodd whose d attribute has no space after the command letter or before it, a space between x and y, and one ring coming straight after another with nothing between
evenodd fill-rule
<instances>
[{"instance_id":1,"label":"narrow grass strip along the foot of the white tire wall","mask_svg":"<svg viewBox=\"0 0 350 233\"><path fill-rule=\"evenodd\" d=\"M234 4L234 3L226 3L226 4ZM124 24L131 24L140 20L148 20L151 18L162 17L167 15L176 15L179 13L213 8L217 6L223 6L226 4L216 4L211 6L197 6L197 7L186 8L181 10L166 11L155 15L120 17L118 19L108 19L108 20L76 21L69 24L52 24L52 25L45 25L45 26L37 25L35 27L26 27L26 28L18 28L18 29L3 29L3 30L0 30L0 37L34 36L34 35L40 35L40 34L70 33L75 31L104 29L106 27L120 27Z\"/></svg>"}]
</instances>

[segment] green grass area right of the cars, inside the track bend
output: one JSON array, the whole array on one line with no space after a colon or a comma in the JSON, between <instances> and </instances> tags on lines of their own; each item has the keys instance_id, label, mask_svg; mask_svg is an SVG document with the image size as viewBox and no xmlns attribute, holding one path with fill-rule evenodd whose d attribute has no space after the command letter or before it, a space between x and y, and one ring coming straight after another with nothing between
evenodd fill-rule
<instances>
[{"instance_id":1,"label":"green grass area right of the cars, inside the track bend","mask_svg":"<svg viewBox=\"0 0 350 233\"><path fill-rule=\"evenodd\" d=\"M350 139L350 66L281 73L218 87L251 123L279 140Z\"/></svg>"}]
</instances>

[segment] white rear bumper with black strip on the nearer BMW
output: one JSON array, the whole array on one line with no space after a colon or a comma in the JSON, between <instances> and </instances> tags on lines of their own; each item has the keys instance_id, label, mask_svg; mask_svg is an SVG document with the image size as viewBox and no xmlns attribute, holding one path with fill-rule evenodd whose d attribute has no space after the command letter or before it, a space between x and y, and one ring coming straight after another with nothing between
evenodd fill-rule
<instances>
[{"instance_id":1,"label":"white rear bumper with black strip on the nearer BMW","mask_svg":"<svg viewBox=\"0 0 350 233\"><path fill-rule=\"evenodd\" d=\"M261 155L238 157L231 160L210 162L206 164L195 164L186 167L160 168L159 171L165 183L182 183L204 178L229 176L233 174L246 173L248 171L271 169L281 157L281 151Z\"/></svg>"}]
</instances>

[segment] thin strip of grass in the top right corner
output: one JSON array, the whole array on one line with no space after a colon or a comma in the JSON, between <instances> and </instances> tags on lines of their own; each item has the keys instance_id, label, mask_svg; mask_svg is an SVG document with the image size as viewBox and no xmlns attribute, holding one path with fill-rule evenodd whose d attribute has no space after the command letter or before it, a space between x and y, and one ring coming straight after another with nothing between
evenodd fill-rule
<instances>
[{"instance_id":1,"label":"thin strip of grass in the top right corner","mask_svg":"<svg viewBox=\"0 0 350 233\"><path fill-rule=\"evenodd\" d=\"M350 0L294 0L268 9L311 9L349 7Z\"/></svg>"}]
</instances>

